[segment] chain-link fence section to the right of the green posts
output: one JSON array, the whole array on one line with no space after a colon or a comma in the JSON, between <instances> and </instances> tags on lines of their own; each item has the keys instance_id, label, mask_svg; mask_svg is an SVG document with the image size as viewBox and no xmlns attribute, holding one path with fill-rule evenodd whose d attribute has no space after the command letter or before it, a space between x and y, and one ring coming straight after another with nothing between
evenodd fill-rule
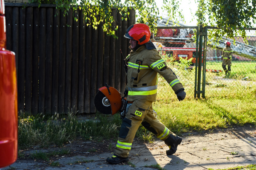
<instances>
[{"instance_id":1,"label":"chain-link fence section to the right of the green posts","mask_svg":"<svg viewBox=\"0 0 256 170\"><path fill-rule=\"evenodd\" d=\"M215 48L207 46L205 96L228 96L256 87L255 35L255 30L250 30L247 32L247 42L241 37L235 37L235 40L222 38ZM225 66L221 58L226 42L231 43L233 50L230 74L225 72L224 68L228 69L228 65Z\"/></svg>"}]
</instances>

